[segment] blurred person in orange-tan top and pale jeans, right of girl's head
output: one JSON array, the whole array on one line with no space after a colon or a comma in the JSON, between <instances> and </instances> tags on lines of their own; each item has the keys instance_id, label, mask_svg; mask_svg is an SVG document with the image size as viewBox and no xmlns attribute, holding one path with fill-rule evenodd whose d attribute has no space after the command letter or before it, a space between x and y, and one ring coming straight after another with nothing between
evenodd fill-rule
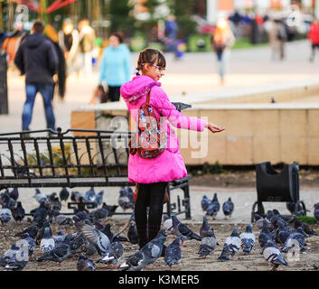
<instances>
[{"instance_id":1,"label":"blurred person in orange-tan top and pale jeans, right of girl's head","mask_svg":"<svg viewBox=\"0 0 319 289\"><path fill-rule=\"evenodd\" d=\"M229 48L235 43L235 36L230 30L226 18L220 18L212 34L212 49L215 51L219 63L220 84L224 83L227 61L230 57Z\"/></svg>"}]
</instances>

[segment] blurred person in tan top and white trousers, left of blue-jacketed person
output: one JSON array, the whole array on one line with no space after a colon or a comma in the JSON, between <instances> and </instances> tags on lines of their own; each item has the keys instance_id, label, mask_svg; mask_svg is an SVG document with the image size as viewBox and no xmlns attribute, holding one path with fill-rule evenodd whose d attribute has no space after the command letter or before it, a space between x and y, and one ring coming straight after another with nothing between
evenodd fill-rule
<instances>
[{"instance_id":1,"label":"blurred person in tan top and white trousers, left of blue-jacketed person","mask_svg":"<svg viewBox=\"0 0 319 289\"><path fill-rule=\"evenodd\" d=\"M86 78L92 74L92 51L94 49L95 32L89 26L89 20L82 19L79 22L79 52L80 68Z\"/></svg>"}]
</instances>

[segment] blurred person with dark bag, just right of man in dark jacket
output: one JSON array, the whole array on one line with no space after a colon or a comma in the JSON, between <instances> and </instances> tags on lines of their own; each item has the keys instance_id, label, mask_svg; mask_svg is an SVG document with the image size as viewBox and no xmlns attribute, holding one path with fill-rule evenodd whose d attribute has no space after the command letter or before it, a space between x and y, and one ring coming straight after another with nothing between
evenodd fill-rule
<instances>
[{"instance_id":1,"label":"blurred person with dark bag, just right of man in dark jacket","mask_svg":"<svg viewBox=\"0 0 319 289\"><path fill-rule=\"evenodd\" d=\"M59 45L64 52L67 63L67 75L77 72L79 76L79 32L74 28L70 19L66 19L59 32Z\"/></svg>"}]
</instances>

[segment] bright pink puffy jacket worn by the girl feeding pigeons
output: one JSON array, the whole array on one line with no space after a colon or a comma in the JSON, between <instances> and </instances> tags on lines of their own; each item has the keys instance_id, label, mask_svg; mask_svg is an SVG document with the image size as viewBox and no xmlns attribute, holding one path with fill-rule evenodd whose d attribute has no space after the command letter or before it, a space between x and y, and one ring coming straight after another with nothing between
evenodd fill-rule
<instances>
[{"instance_id":1,"label":"bright pink puffy jacket worn by the girl feeding pigeons","mask_svg":"<svg viewBox=\"0 0 319 289\"><path fill-rule=\"evenodd\" d=\"M179 150L179 141L170 124L178 128L203 131L206 121L197 117L183 116L160 88L161 83L140 75L122 85L120 92L127 103L128 111L137 123L139 107L145 103L149 89L150 104L155 108L161 127L167 133L167 148L154 159L144 159L135 155L128 158L128 181L139 183L170 182L187 176L185 163Z\"/></svg>"}]
</instances>

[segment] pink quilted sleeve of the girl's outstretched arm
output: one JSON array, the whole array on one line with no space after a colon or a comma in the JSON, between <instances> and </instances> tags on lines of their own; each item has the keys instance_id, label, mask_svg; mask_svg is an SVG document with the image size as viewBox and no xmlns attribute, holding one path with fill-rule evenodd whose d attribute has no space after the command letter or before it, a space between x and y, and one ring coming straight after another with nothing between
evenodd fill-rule
<instances>
[{"instance_id":1,"label":"pink quilted sleeve of the girl's outstretched arm","mask_svg":"<svg viewBox=\"0 0 319 289\"><path fill-rule=\"evenodd\" d=\"M174 107L163 89L154 88L152 92L151 105L158 110L162 117L167 117L172 126L201 132L204 130L207 122L202 118L184 116Z\"/></svg>"}]
</instances>

